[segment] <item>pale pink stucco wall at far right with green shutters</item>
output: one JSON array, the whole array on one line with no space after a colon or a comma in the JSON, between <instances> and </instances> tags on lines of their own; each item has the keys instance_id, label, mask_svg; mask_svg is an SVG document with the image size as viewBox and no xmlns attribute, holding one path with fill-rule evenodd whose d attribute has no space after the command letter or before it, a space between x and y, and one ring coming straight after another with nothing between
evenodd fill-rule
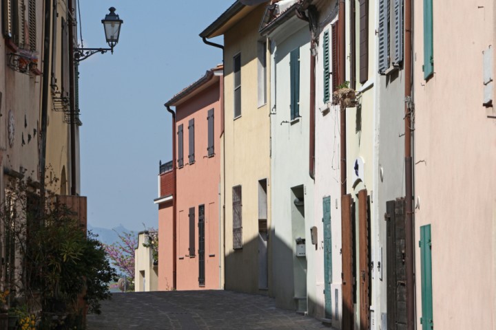
<instances>
[{"instance_id":1,"label":"pale pink stucco wall at far right with green shutters","mask_svg":"<svg viewBox=\"0 0 496 330\"><path fill-rule=\"evenodd\" d=\"M433 1L434 75L424 80L423 5L415 3L415 241L431 224L437 329L495 329L488 283L496 120L482 106L482 51L493 44L493 1ZM460 24L460 22L463 22ZM453 36L453 37L448 37ZM494 44L493 44L494 47ZM419 255L419 248L415 253ZM420 258L415 270L420 274ZM417 314L422 314L416 276ZM420 328L417 318L417 327Z\"/></svg>"}]
</instances>

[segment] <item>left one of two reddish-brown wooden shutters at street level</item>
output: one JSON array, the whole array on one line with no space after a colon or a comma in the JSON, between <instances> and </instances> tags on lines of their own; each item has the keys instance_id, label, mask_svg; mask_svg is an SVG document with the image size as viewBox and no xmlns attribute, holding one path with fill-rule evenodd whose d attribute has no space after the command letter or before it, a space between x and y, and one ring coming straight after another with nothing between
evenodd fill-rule
<instances>
[{"instance_id":1,"label":"left one of two reddish-brown wooden shutters at street level","mask_svg":"<svg viewBox=\"0 0 496 330\"><path fill-rule=\"evenodd\" d=\"M351 195L341 197L342 328L353 329L353 217Z\"/></svg>"}]
</instances>

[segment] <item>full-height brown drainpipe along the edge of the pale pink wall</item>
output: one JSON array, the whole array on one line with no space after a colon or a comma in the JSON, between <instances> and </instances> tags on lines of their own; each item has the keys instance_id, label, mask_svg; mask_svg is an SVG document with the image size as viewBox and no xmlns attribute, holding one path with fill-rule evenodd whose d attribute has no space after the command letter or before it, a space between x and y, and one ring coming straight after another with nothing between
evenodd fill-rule
<instances>
[{"instance_id":1,"label":"full-height brown drainpipe along the edge of the pale pink wall","mask_svg":"<svg viewBox=\"0 0 496 330\"><path fill-rule=\"evenodd\" d=\"M406 324L408 330L415 329L415 261L413 260L413 167L411 154L411 88L412 88L412 21L411 0L404 1L404 150L405 150L405 264L406 264Z\"/></svg>"}]
</instances>

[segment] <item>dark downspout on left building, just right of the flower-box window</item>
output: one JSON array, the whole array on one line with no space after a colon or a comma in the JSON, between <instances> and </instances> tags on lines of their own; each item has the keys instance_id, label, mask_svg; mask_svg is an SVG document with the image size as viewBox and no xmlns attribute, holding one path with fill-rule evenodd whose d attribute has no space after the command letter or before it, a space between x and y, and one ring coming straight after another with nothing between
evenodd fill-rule
<instances>
[{"instance_id":1,"label":"dark downspout on left building, just right of the flower-box window","mask_svg":"<svg viewBox=\"0 0 496 330\"><path fill-rule=\"evenodd\" d=\"M45 0L45 27L43 37L43 87L41 96L41 146L39 151L39 171L41 183L41 196L45 195L45 162L46 162L46 134L47 134L47 118L48 118L48 93L50 91L50 70L48 69L50 63L50 22L52 21L52 1Z\"/></svg>"}]
</instances>

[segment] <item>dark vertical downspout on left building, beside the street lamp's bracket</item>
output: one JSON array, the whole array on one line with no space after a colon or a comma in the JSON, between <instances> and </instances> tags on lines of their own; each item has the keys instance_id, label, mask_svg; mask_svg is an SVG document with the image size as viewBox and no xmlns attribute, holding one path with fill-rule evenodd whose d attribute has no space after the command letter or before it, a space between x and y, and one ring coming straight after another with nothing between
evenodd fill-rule
<instances>
[{"instance_id":1,"label":"dark vertical downspout on left building, beside the street lamp's bracket","mask_svg":"<svg viewBox=\"0 0 496 330\"><path fill-rule=\"evenodd\" d=\"M71 154L71 195L76 195L77 176L76 176L76 93L74 89L74 70L76 63L74 63L74 19L72 14L72 0L68 0L69 4L69 63L71 69L69 70L69 100L70 100L70 154Z\"/></svg>"}]
</instances>

